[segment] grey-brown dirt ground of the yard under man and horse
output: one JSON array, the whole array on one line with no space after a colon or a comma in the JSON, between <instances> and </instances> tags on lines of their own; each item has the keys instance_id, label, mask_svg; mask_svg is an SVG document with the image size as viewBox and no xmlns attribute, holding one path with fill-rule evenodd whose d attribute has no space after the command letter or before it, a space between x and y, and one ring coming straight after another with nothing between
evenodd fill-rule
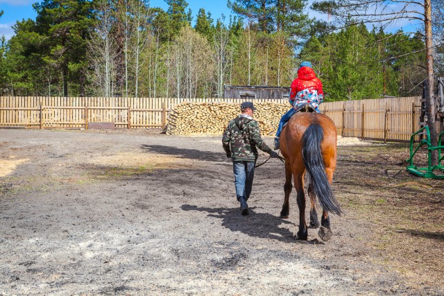
<instances>
[{"instance_id":1,"label":"grey-brown dirt ground of the yard under man and horse","mask_svg":"<svg viewBox=\"0 0 444 296\"><path fill-rule=\"evenodd\" d=\"M0 130L0 295L444 295L444 181L406 144L340 144L345 215L305 242L278 160L241 216L221 137Z\"/></svg>"}]
</instances>

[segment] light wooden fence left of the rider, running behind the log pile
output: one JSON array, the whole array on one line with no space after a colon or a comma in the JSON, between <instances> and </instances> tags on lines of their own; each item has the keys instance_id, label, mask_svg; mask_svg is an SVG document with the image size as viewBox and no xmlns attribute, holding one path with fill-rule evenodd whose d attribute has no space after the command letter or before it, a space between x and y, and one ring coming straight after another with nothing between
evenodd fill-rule
<instances>
[{"instance_id":1,"label":"light wooden fence left of the rider, running behind the log pile","mask_svg":"<svg viewBox=\"0 0 444 296\"><path fill-rule=\"evenodd\" d=\"M0 127L87 128L111 122L117 128L164 128L173 105L182 102L231 102L224 98L63 98L0 97ZM255 102L269 101L255 99ZM286 100L273 100L284 103Z\"/></svg>"}]
</instances>

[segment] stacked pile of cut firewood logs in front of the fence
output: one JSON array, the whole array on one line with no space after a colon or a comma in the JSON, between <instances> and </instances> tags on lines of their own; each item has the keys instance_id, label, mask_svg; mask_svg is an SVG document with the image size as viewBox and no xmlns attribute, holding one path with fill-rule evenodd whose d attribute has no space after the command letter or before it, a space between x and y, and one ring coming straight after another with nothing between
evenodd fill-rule
<instances>
[{"instance_id":1,"label":"stacked pile of cut firewood logs in front of the fence","mask_svg":"<svg viewBox=\"0 0 444 296\"><path fill-rule=\"evenodd\" d=\"M274 134L288 104L255 103L253 119L263 135ZM240 114L237 103L181 103L168 116L167 134L222 134L228 122Z\"/></svg>"}]
</instances>

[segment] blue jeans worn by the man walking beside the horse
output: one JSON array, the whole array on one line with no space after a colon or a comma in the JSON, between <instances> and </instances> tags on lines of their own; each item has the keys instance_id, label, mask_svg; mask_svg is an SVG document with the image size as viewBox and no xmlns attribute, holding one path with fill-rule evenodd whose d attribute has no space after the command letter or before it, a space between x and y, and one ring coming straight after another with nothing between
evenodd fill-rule
<instances>
[{"instance_id":1,"label":"blue jeans worn by the man walking beside the horse","mask_svg":"<svg viewBox=\"0 0 444 296\"><path fill-rule=\"evenodd\" d=\"M255 176L255 162L233 162L234 186L236 187L237 200L244 196L250 198L253 189L253 177Z\"/></svg>"}]
</instances>

